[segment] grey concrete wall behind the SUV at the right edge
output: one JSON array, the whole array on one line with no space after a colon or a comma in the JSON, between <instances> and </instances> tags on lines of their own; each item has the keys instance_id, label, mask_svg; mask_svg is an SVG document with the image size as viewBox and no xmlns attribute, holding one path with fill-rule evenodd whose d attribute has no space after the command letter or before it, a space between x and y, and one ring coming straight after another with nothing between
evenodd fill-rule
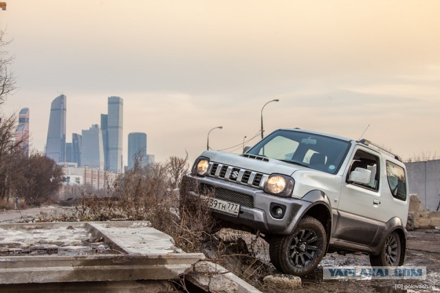
<instances>
[{"instance_id":1,"label":"grey concrete wall behind the SUV at the right edge","mask_svg":"<svg viewBox=\"0 0 440 293\"><path fill-rule=\"evenodd\" d=\"M418 194L428 211L436 211L440 200L440 160L405 163L409 193Z\"/></svg>"}]
</instances>

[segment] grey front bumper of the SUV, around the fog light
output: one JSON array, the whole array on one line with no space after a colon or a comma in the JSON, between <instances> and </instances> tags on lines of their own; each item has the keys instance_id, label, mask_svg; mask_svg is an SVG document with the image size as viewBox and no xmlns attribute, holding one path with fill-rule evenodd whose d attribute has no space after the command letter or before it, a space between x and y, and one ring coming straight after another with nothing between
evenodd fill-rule
<instances>
[{"instance_id":1,"label":"grey front bumper of the SUV, around the fog light","mask_svg":"<svg viewBox=\"0 0 440 293\"><path fill-rule=\"evenodd\" d=\"M212 210L214 215L236 225L244 225L263 233L292 233L296 223L309 209L311 202L296 198L281 198L263 190L213 177L185 175L181 181L181 204L191 205L199 196L209 196L240 204L238 217ZM271 208L283 207L282 218L274 218Z\"/></svg>"}]
</instances>

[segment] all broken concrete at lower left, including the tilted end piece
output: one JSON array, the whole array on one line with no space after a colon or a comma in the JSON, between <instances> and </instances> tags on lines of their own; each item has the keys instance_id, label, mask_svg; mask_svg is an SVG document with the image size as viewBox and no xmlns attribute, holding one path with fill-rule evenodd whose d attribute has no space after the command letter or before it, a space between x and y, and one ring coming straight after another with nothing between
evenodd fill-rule
<instances>
[{"instance_id":1,"label":"all broken concrete at lower left, including the tilted end piece","mask_svg":"<svg viewBox=\"0 0 440 293\"><path fill-rule=\"evenodd\" d=\"M93 245L87 245L89 242ZM34 254L42 248L49 248L50 253ZM119 292L118 284L137 282L129 283L133 292L139 292L137 286L140 291L166 292L168 280L184 276L210 292L259 292L225 268L199 261L204 259L202 253L184 253L175 247L172 237L148 222L0 224L2 253L0 285L12 291L32 288L30 283L42 290L65 289L65 285L56 285L63 283L72 290L85 288L85 284L97 284L97 288L107 284L110 292Z\"/></svg>"}]
</instances>

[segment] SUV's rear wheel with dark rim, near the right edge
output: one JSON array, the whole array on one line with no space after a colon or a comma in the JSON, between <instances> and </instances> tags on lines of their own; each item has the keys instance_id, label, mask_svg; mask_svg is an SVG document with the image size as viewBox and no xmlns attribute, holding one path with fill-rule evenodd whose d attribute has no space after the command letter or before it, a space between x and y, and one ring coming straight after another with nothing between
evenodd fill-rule
<instances>
[{"instance_id":1,"label":"SUV's rear wheel with dark rim, near the right edge","mask_svg":"<svg viewBox=\"0 0 440 293\"><path fill-rule=\"evenodd\" d=\"M401 266L401 242L397 232L393 232L388 237L379 255L370 255L371 266Z\"/></svg>"}]
</instances>

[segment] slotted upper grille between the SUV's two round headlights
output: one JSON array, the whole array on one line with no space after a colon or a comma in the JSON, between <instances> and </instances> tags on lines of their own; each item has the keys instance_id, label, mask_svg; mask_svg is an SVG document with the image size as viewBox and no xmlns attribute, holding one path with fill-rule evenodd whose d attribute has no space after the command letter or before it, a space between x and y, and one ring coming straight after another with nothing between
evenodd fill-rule
<instances>
[{"instance_id":1,"label":"slotted upper grille between the SUV's two round headlights","mask_svg":"<svg viewBox=\"0 0 440 293\"><path fill-rule=\"evenodd\" d=\"M269 175L254 172L248 169L223 165L219 163L209 163L208 174L211 177L221 178L228 181L234 181L243 185L263 189Z\"/></svg>"}]
</instances>

